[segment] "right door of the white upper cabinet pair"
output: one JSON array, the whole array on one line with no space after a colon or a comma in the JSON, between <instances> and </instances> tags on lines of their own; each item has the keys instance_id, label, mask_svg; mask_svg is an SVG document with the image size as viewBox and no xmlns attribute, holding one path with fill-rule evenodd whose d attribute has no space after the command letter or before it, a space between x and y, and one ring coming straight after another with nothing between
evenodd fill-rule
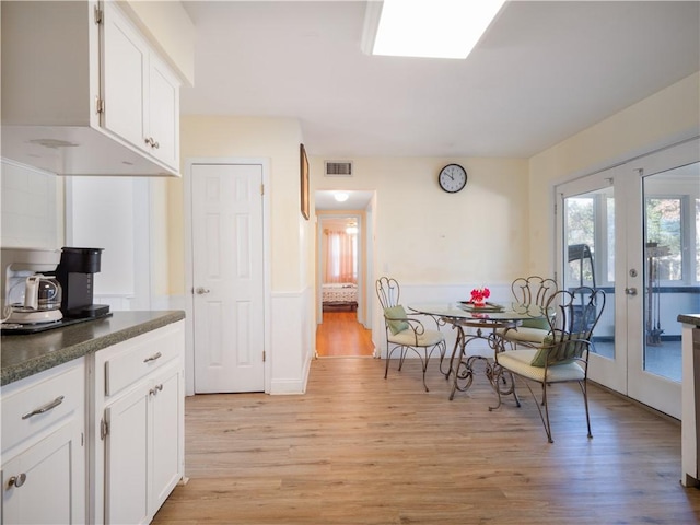
<instances>
[{"instance_id":1,"label":"right door of the white upper cabinet pair","mask_svg":"<svg viewBox=\"0 0 700 525\"><path fill-rule=\"evenodd\" d=\"M151 153L179 168L179 82L154 54L150 56L148 110Z\"/></svg>"}]
</instances>

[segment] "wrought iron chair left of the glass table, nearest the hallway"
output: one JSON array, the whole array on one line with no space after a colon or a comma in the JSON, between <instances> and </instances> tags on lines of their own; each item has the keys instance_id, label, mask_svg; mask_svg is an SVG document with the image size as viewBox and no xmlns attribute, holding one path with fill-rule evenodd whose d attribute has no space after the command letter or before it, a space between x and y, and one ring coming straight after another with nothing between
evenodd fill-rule
<instances>
[{"instance_id":1,"label":"wrought iron chair left of the glass table, nearest the hallway","mask_svg":"<svg viewBox=\"0 0 700 525\"><path fill-rule=\"evenodd\" d=\"M380 298L382 311L384 312L384 325L386 329L386 366L384 378L389 371L389 360L395 350L399 351L398 370L404 366L404 360L409 350L412 350L421 360L423 369L423 387L429 392L425 384L425 370L432 353L438 350L440 357L445 355L445 336L438 329L427 329L423 324L408 317L406 310L400 304L400 287L396 279L381 277L376 281L376 294ZM434 319L433 319L434 320Z\"/></svg>"}]
</instances>

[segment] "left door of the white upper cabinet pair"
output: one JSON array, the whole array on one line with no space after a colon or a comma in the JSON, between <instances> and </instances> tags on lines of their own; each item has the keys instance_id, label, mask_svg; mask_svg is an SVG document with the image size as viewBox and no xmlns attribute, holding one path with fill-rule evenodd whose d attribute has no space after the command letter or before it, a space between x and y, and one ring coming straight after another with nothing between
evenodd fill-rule
<instances>
[{"instance_id":1,"label":"left door of the white upper cabinet pair","mask_svg":"<svg viewBox=\"0 0 700 525\"><path fill-rule=\"evenodd\" d=\"M149 50L131 23L104 2L102 86L105 129L144 149L144 101Z\"/></svg>"}]
</instances>

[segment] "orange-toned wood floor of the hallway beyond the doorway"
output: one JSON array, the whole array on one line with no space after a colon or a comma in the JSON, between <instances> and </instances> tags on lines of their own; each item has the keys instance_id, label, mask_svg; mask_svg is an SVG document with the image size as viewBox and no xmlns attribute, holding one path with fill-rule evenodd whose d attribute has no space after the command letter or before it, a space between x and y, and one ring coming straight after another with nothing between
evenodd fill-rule
<instances>
[{"instance_id":1,"label":"orange-toned wood floor of the hallway beyond the doorway","mask_svg":"<svg viewBox=\"0 0 700 525\"><path fill-rule=\"evenodd\" d=\"M357 312L324 312L316 328L317 357L372 357L373 352L372 330L358 323Z\"/></svg>"}]
</instances>

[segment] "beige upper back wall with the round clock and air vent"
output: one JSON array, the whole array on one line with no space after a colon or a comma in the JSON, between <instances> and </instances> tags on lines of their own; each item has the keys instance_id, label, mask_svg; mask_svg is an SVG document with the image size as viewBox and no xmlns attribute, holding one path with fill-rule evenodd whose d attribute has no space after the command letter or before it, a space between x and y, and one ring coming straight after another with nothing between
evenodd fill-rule
<instances>
[{"instance_id":1,"label":"beige upper back wall with the round clock and air vent","mask_svg":"<svg viewBox=\"0 0 700 525\"><path fill-rule=\"evenodd\" d=\"M521 159L355 158L354 176L324 177L312 160L313 189L376 191L375 273L406 283L510 282L527 260L527 161ZM448 163L468 183L438 185Z\"/></svg>"}]
</instances>

